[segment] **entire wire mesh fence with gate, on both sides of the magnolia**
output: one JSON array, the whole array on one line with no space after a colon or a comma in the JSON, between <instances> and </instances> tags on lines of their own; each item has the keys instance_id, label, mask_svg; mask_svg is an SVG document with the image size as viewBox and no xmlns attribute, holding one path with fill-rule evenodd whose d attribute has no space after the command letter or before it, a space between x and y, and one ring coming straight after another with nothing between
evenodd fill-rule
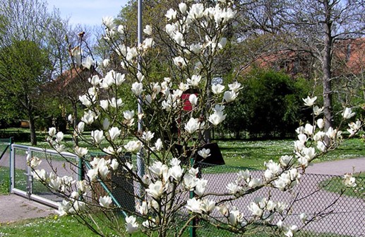
<instances>
[{"instance_id":1,"label":"entire wire mesh fence with gate, on both sides of the magnolia","mask_svg":"<svg viewBox=\"0 0 365 237\"><path fill-rule=\"evenodd\" d=\"M30 168L27 164L27 156L30 152L26 146L13 146L14 166L15 166L15 184L14 187L29 192L32 195L40 195L48 200L55 202L61 201L61 198L54 195L47 187L35 178L29 178ZM85 175L88 167L83 170L78 168L75 157L65 157L58 154L47 153L44 150L32 150L32 156L37 156L42 160L39 169L44 168L47 172L57 173L59 176L73 176L74 180ZM94 157L101 157L102 154L94 154ZM90 158L92 160L92 158ZM125 161L135 163L131 156L125 156ZM71 163L69 162L71 161ZM246 168L232 166L213 166L207 164L200 165L202 178L208 180L208 187L205 192L225 193L226 185L236 180L239 170ZM83 171L80 173L80 171ZM255 178L263 179L263 170L250 170L251 175ZM126 175L122 168L110 176L108 183L100 181L95 182L93 190L96 195L112 195L120 204L121 210L126 212L136 212L139 186L136 180ZM229 202L230 206L237 207L244 218L250 219L252 215L248 209L249 203L253 202L256 197L270 197L274 202L286 202L289 204L287 217L284 219L287 224L295 224L301 229L296 236L365 236L365 178L357 177L356 187L345 187L342 183L342 177L333 175L314 175L304 174L301 177L301 184L294 187L291 192L280 192L277 189L264 187L253 194L245 195L237 200ZM181 200L187 200L189 193L185 194ZM223 197L211 195L208 197L215 202L219 202ZM98 200L98 197L92 197ZM304 224L299 218L300 214L306 213L310 220L316 216L309 224ZM213 213L214 214L214 213ZM178 213L179 218L176 221L183 222L189 219L188 212ZM222 216L215 216L217 219ZM224 217L223 217L224 218ZM275 216L273 224L281 220L282 216ZM226 220L227 221L227 220ZM214 222L196 220L196 229L191 232L190 236L236 236L231 231L225 231L215 228ZM176 225L178 226L178 225ZM270 224L257 223L252 228L247 229L246 236L277 236L277 230ZM241 236L241 235L237 235Z\"/></svg>"}]
</instances>

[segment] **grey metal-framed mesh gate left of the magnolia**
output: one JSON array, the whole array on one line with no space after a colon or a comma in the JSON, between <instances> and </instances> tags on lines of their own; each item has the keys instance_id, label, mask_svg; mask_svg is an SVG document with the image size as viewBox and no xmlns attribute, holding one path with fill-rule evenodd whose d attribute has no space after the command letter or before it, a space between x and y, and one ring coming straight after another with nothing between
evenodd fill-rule
<instances>
[{"instance_id":1,"label":"grey metal-framed mesh gate left of the magnolia","mask_svg":"<svg viewBox=\"0 0 365 237\"><path fill-rule=\"evenodd\" d=\"M32 168L28 161L32 157L40 158L42 161L36 169L44 169L47 173L55 173L56 171L59 176L71 176L73 180L80 179L80 175L78 175L79 158L75 154L68 152L59 154L50 149L18 144L12 144L11 149L11 193L27 197L29 200L47 204L54 208L57 208L58 202L61 202L62 199L59 195L56 195L39 180L33 178Z\"/></svg>"}]
</instances>

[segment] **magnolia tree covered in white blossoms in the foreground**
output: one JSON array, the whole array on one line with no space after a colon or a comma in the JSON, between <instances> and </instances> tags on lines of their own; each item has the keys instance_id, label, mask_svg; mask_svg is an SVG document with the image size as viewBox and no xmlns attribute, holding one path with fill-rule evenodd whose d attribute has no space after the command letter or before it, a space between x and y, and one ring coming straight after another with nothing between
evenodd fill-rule
<instances>
[{"instance_id":1,"label":"magnolia tree covered in white blossoms in the foreground","mask_svg":"<svg viewBox=\"0 0 365 237\"><path fill-rule=\"evenodd\" d=\"M172 76L162 79L151 74L160 47L153 39L152 28L145 26L147 37L143 43L128 45L127 29L116 25L113 18L103 19L104 40L114 52L114 60L117 55L124 74L108 71L109 59L104 59L99 66L104 77L92 76L88 93L80 96L86 109L74 128L74 137L88 146L68 146L64 134L53 127L49 129L49 144L60 154L64 151L77 154L84 164L84 177L79 180L59 177L56 170L38 170L39 159L33 157L30 161L34 177L64 197L59 204L60 215L78 216L100 236L109 233L123 236L135 231L181 236L197 218L234 233L245 233L260 224L272 226L285 236L293 236L299 230L285 219L285 210L289 208L285 200L274 202L268 196L251 200L246 207L234 207L230 203L263 187L282 192L291 190L300 183L301 174L313 159L337 147L342 139L341 131L330 128L323 132L323 108L315 105L316 97L304 99L305 105L313 108L314 120L297 129L294 153L282 156L279 161L265 162L262 177L254 177L249 170L240 171L234 180L225 184L225 192L209 193L208 180L201 177L201 170L191 159L197 155L202 158L214 155L210 149L201 148L206 131L225 120L225 105L242 89L237 81L226 85L213 83L215 57L227 43L222 35L236 13L232 2L221 0L210 6L188 1L179 4L176 10L167 11L164 35L159 37L169 45L174 71L170 71ZM71 54L80 67L97 68L92 57L85 57L80 47ZM121 86L126 84L145 113L124 109L119 95ZM192 105L189 111L184 110L186 100ZM347 120L354 113L346 108L342 115ZM143 124L143 132L136 128L137 122ZM94 128L91 132L84 132L91 126ZM359 121L352 122L348 130L353 135L361 126ZM90 146L103 155L90 156ZM145 166L126 158L137 152ZM138 188L128 190L125 183L114 183L115 176ZM356 185L351 174L345 176L344 182L348 186ZM100 185L107 191L101 191ZM110 192L118 185L136 202L132 210L117 202ZM251 215L244 216L244 209ZM306 214L300 217L304 226L313 220Z\"/></svg>"}]
</instances>

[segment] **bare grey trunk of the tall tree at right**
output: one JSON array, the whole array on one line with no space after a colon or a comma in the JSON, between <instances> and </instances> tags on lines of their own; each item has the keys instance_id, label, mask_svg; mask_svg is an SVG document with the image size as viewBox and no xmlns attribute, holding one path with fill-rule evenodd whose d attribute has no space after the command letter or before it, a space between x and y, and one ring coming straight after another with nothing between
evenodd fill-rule
<instances>
[{"instance_id":1,"label":"bare grey trunk of the tall tree at right","mask_svg":"<svg viewBox=\"0 0 365 237\"><path fill-rule=\"evenodd\" d=\"M323 24L323 30L325 31L325 37L323 40L324 48L322 55L322 72L323 72L323 106L325 117L325 131L329 127L333 127L333 108L332 108L332 45L333 37L331 35L332 22L330 21L330 6L328 1L323 1L325 9L325 23Z\"/></svg>"}]
</instances>

